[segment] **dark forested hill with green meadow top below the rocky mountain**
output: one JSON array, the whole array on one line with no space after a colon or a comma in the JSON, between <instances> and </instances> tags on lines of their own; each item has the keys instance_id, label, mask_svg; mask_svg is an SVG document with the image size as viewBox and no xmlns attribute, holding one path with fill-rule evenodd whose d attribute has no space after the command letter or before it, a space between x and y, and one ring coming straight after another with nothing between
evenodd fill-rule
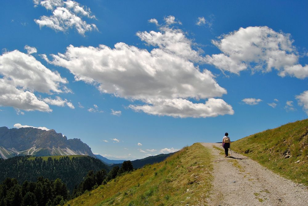
<instances>
[{"instance_id":1,"label":"dark forested hill with green meadow top below the rocky mountain","mask_svg":"<svg viewBox=\"0 0 308 206\"><path fill-rule=\"evenodd\" d=\"M6 160L0 159L0 182L6 177L16 178L20 184L24 181L35 182L38 177L49 180L61 179L67 188L73 192L87 175L89 170L94 172L110 167L100 160L81 155L71 156L16 156Z\"/></svg>"}]
</instances>

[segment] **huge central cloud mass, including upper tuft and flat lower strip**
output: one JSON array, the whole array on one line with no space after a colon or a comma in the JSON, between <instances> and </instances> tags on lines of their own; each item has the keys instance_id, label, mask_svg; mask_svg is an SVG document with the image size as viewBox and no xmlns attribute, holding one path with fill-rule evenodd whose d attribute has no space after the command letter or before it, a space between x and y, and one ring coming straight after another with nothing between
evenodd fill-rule
<instances>
[{"instance_id":1,"label":"huge central cloud mass, including upper tuft and flat lower strip","mask_svg":"<svg viewBox=\"0 0 308 206\"><path fill-rule=\"evenodd\" d=\"M123 42L114 48L75 47L64 54L51 55L52 63L67 68L76 81L97 86L103 93L140 100L144 105L129 105L134 111L173 117L213 117L234 113L221 97L220 87L207 69L194 63L204 61L193 42L179 29L160 27L160 31L137 32L149 45L150 52ZM188 99L208 99L193 103Z\"/></svg>"}]
</instances>

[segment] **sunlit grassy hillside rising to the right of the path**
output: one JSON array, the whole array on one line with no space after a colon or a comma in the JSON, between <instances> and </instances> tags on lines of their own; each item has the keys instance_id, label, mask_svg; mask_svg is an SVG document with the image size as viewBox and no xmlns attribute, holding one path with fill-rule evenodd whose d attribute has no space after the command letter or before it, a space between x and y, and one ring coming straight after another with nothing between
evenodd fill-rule
<instances>
[{"instance_id":1,"label":"sunlit grassy hillside rising to the right of the path","mask_svg":"<svg viewBox=\"0 0 308 206\"><path fill-rule=\"evenodd\" d=\"M281 176L308 185L308 119L250 135L231 147Z\"/></svg>"}]
</instances>

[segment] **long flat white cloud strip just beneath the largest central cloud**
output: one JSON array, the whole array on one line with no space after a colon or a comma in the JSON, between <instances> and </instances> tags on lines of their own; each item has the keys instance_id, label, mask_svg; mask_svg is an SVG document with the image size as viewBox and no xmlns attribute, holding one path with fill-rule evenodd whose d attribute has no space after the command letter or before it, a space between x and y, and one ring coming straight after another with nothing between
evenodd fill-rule
<instances>
[{"instance_id":1,"label":"long flat white cloud strip just beneath the largest central cloud","mask_svg":"<svg viewBox=\"0 0 308 206\"><path fill-rule=\"evenodd\" d=\"M151 99L148 104L129 107L135 111L143 111L151 115L166 115L172 117L216 117L218 115L233 115L232 107L222 99L210 98L204 103L192 103L186 99Z\"/></svg>"}]
</instances>

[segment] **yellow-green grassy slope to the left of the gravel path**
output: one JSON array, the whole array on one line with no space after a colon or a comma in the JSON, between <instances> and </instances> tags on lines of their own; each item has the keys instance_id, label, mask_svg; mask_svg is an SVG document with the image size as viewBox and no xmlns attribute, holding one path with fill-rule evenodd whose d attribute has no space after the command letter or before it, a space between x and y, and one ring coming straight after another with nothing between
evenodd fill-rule
<instances>
[{"instance_id":1,"label":"yellow-green grassy slope to the left of the gravel path","mask_svg":"<svg viewBox=\"0 0 308 206\"><path fill-rule=\"evenodd\" d=\"M203 205L213 170L208 149L200 143L184 147L165 161L146 165L85 192L73 205ZM203 162L203 163L198 163Z\"/></svg>"}]
</instances>

